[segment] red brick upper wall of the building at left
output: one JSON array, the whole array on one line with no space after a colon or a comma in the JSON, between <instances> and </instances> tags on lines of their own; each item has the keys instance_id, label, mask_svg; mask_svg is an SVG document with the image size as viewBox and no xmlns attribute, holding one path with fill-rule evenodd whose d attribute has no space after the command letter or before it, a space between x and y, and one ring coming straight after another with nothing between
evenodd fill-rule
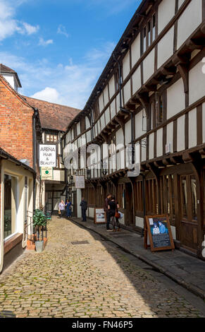
<instances>
[{"instance_id":1,"label":"red brick upper wall of the building at left","mask_svg":"<svg viewBox=\"0 0 205 332\"><path fill-rule=\"evenodd\" d=\"M16 159L27 159L33 167L33 110L0 81L0 147Z\"/></svg>"}]
</instances>

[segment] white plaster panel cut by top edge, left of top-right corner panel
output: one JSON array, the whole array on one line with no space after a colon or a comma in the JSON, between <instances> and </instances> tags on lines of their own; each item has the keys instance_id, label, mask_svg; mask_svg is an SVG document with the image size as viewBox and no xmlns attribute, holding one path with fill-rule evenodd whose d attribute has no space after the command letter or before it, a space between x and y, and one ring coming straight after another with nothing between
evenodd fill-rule
<instances>
[{"instance_id":1,"label":"white plaster panel cut by top edge, left of top-right corner panel","mask_svg":"<svg viewBox=\"0 0 205 332\"><path fill-rule=\"evenodd\" d=\"M175 15L175 1L174 0L163 0L159 4L158 11L158 32L160 33L163 28L168 25L170 20Z\"/></svg>"}]
</instances>

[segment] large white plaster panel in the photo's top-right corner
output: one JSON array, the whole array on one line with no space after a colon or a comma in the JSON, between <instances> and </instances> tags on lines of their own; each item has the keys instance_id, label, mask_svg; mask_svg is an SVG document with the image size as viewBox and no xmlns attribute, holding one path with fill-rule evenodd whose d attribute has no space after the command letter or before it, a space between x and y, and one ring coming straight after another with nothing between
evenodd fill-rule
<instances>
[{"instance_id":1,"label":"large white plaster panel in the photo's top-right corner","mask_svg":"<svg viewBox=\"0 0 205 332\"><path fill-rule=\"evenodd\" d=\"M201 0L192 0L178 20L178 49L192 35L192 32L197 29L201 22Z\"/></svg>"}]
</instances>

